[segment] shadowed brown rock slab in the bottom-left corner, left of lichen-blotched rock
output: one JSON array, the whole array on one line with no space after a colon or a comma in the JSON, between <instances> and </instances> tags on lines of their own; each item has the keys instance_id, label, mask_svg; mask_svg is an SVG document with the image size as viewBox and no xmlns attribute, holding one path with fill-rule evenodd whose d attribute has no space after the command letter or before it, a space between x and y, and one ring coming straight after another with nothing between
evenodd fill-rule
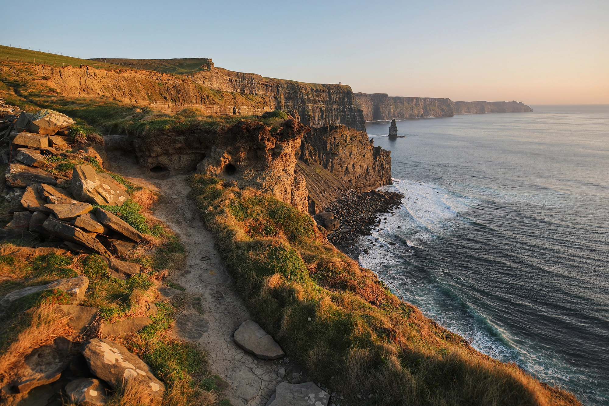
<instances>
[{"instance_id":1,"label":"shadowed brown rock slab in the bottom-left corner, left of lichen-blotched rock","mask_svg":"<svg viewBox=\"0 0 609 406\"><path fill-rule=\"evenodd\" d=\"M18 371L19 379L14 383L19 393L55 382L69 364L71 341L57 337L52 344L38 347L24 358L24 366Z\"/></svg>"}]
</instances>

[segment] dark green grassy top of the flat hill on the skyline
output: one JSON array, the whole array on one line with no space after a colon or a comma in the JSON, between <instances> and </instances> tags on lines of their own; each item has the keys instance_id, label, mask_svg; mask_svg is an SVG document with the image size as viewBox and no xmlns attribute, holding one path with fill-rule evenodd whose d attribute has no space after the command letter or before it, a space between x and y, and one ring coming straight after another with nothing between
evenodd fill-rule
<instances>
[{"instance_id":1,"label":"dark green grassy top of the flat hill on the skyline","mask_svg":"<svg viewBox=\"0 0 609 406\"><path fill-rule=\"evenodd\" d=\"M174 58L174 59L124 59L94 58L95 63L104 62L124 66L130 69L144 69L161 73L191 74L205 70L210 59L207 58Z\"/></svg>"}]
</instances>

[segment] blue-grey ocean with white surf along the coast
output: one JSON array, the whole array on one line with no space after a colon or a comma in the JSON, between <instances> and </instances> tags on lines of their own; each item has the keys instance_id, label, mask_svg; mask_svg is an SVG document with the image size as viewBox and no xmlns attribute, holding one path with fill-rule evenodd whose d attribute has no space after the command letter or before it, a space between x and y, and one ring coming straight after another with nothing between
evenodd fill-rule
<instances>
[{"instance_id":1,"label":"blue-grey ocean with white surf along the coast","mask_svg":"<svg viewBox=\"0 0 609 406\"><path fill-rule=\"evenodd\" d=\"M607 405L609 105L531 107L399 119L396 140L367 123L406 198L359 261L484 354Z\"/></svg>"}]
</instances>

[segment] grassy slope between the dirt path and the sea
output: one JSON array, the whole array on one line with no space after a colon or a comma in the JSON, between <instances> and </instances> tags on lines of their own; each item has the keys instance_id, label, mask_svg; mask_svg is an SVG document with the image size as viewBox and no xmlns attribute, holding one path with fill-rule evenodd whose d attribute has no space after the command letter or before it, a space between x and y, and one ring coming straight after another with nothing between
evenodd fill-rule
<instances>
[{"instance_id":1,"label":"grassy slope between the dirt path and the sea","mask_svg":"<svg viewBox=\"0 0 609 406\"><path fill-rule=\"evenodd\" d=\"M257 321L315 382L356 404L579 404L398 300L294 207L202 175L191 186Z\"/></svg>"}]
</instances>

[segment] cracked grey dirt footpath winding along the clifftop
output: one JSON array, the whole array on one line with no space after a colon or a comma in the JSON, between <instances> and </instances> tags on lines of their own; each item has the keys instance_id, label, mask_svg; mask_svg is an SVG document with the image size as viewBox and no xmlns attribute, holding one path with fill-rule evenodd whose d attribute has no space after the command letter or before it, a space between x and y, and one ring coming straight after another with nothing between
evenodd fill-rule
<instances>
[{"instance_id":1,"label":"cracked grey dirt footpath winding along the clifftop","mask_svg":"<svg viewBox=\"0 0 609 406\"><path fill-rule=\"evenodd\" d=\"M201 315L188 311L178 315L177 335L199 343L208 352L212 373L229 384L221 398L229 399L234 406L265 405L282 380L306 382L306 376L299 373L301 368L288 358L260 360L234 343L235 330L243 321L253 318L214 248L213 236L188 199L187 176L155 176L136 166L131 157L113 160L111 170L163 196L154 215L177 233L186 249L185 269L169 279L201 298ZM180 324L184 325L181 329ZM286 371L283 379L278 376L281 368Z\"/></svg>"}]
</instances>

